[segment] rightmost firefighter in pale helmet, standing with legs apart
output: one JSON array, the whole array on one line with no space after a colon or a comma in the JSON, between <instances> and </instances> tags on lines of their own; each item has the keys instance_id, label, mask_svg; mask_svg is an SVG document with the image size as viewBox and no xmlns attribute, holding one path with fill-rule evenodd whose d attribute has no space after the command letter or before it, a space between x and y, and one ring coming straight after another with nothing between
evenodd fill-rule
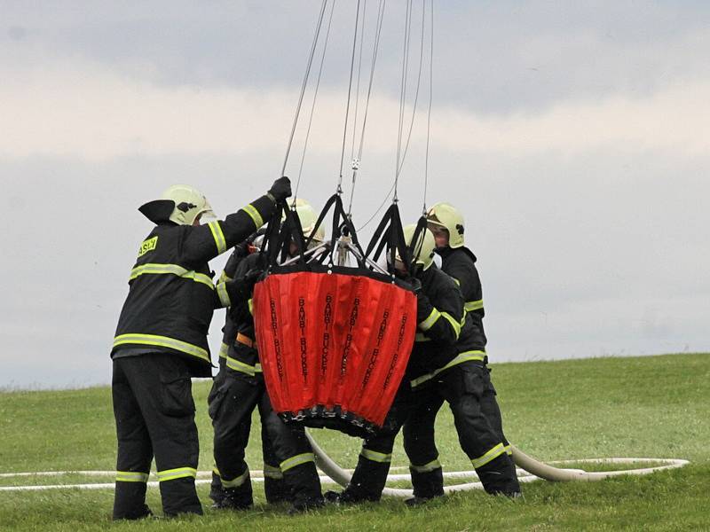
<instances>
[{"instance_id":1,"label":"rightmost firefighter in pale helmet, standing with legs apart","mask_svg":"<svg viewBox=\"0 0 710 532\"><path fill-rule=\"evenodd\" d=\"M441 269L454 279L463 294L464 321L456 343L456 356L431 364L430 371L411 380L415 406L403 432L414 498L407 503L417 505L444 494L434 442L434 421L445 400L454 411L461 447L466 450L486 491L517 497L520 485L515 465L509 458L510 445L503 434L501 411L486 365L483 293L476 255L464 246L463 217L453 206L437 203L430 208L427 219L437 253L442 258ZM469 408L475 413L460 413L457 417L457 408ZM494 440L488 438L491 430ZM478 444L479 441L485 444Z\"/></svg>"}]
</instances>

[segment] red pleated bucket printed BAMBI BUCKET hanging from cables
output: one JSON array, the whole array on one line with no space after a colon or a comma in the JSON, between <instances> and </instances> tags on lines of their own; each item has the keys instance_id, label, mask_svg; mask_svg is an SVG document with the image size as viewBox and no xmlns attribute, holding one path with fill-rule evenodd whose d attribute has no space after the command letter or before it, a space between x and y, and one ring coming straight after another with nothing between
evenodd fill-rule
<instances>
[{"instance_id":1,"label":"red pleated bucket printed BAMBI BUCKET hanging from cables","mask_svg":"<svg viewBox=\"0 0 710 532\"><path fill-rule=\"evenodd\" d=\"M414 293L384 276L272 273L255 286L254 317L283 419L358 435L383 425L414 343Z\"/></svg>"}]
</instances>

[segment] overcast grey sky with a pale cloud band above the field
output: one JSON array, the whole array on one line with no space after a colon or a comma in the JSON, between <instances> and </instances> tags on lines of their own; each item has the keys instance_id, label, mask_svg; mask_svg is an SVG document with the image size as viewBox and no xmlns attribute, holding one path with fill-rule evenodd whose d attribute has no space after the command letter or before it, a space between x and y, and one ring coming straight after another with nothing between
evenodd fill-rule
<instances>
[{"instance_id":1,"label":"overcast grey sky with a pale cloud band above the field","mask_svg":"<svg viewBox=\"0 0 710 532\"><path fill-rule=\"evenodd\" d=\"M436 4L427 201L466 216L492 361L709 351L710 4ZM384 15L356 225L395 174L405 5L390 0ZM319 8L0 0L0 387L109 381L151 230L137 207L188 183L226 215L269 187ZM317 205L339 173L354 20L354 2L335 5L299 190ZM428 72L398 185L405 223L422 209ZM311 105L309 92L294 179Z\"/></svg>"}]
</instances>

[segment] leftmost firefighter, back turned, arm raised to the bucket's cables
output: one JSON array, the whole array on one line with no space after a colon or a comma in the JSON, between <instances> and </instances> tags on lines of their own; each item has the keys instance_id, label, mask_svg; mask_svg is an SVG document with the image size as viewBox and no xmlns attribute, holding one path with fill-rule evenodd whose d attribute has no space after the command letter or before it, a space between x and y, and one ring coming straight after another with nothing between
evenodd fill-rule
<instances>
[{"instance_id":1,"label":"leftmost firefighter, back turned, arm raised to the bucket's cables","mask_svg":"<svg viewBox=\"0 0 710 532\"><path fill-rule=\"evenodd\" d=\"M151 515L146 481L153 458L165 515L202 512L190 378L211 376L207 333L220 303L208 261L256 231L290 194L288 177L280 177L261 198L205 225L201 217L214 216L209 202L187 185L138 208L156 225L139 246L111 350L114 520Z\"/></svg>"}]
</instances>

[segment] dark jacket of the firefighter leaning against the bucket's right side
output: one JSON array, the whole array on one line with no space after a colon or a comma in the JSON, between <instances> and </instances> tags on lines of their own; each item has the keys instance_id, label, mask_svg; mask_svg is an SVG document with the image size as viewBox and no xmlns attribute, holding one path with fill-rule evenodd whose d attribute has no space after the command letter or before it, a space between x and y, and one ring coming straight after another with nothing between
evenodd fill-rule
<instances>
[{"instance_id":1,"label":"dark jacket of the firefighter leaning against the bucket's right side","mask_svg":"<svg viewBox=\"0 0 710 532\"><path fill-rule=\"evenodd\" d=\"M414 381L436 374L457 356L461 335L463 296L454 279L432 264L418 276L417 332L406 379Z\"/></svg>"}]
</instances>

